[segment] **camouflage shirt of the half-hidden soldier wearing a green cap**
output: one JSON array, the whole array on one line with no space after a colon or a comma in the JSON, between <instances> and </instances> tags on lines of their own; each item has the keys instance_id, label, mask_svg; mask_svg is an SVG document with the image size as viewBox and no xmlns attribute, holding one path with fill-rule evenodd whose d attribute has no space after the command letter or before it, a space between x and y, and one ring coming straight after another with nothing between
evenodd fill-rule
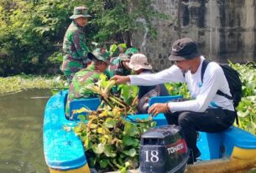
<instances>
[{"instance_id":1,"label":"camouflage shirt of the half-hidden soldier wearing a green cap","mask_svg":"<svg viewBox=\"0 0 256 173\"><path fill-rule=\"evenodd\" d=\"M107 74L108 78L111 78L114 75L127 76L127 75L131 74L131 71L129 71L128 69L125 69L123 67L120 57L114 57L114 58L110 59L110 62L113 65L109 65L105 72L105 74Z\"/></svg>"}]
</instances>

